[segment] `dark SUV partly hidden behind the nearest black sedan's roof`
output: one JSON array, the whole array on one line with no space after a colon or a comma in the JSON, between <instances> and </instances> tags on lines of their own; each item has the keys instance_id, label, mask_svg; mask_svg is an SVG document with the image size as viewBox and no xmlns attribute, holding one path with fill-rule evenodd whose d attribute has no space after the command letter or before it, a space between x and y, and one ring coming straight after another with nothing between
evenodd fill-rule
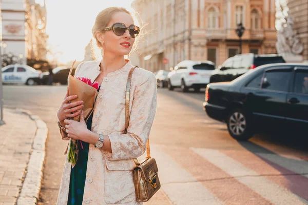
<instances>
[{"instance_id":1,"label":"dark SUV partly hidden behind the nearest black sedan's roof","mask_svg":"<svg viewBox=\"0 0 308 205\"><path fill-rule=\"evenodd\" d=\"M226 59L218 69L214 70L209 83L232 81L251 69L274 63L285 63L285 61L282 56L276 54L238 54Z\"/></svg>"}]
</instances>

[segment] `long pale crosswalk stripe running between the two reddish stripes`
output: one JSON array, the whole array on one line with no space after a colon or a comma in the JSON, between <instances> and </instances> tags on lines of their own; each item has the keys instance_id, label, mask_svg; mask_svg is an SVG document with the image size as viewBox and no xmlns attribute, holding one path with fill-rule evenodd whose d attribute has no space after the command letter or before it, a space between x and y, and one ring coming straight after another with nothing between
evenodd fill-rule
<instances>
[{"instance_id":1,"label":"long pale crosswalk stripe running between the two reddish stripes","mask_svg":"<svg viewBox=\"0 0 308 205\"><path fill-rule=\"evenodd\" d=\"M255 171L244 167L240 162L226 156L218 150L191 148L215 166L224 170L238 181L253 189L274 204L306 204L304 199L278 186L266 177L259 176Z\"/></svg>"}]
</instances>

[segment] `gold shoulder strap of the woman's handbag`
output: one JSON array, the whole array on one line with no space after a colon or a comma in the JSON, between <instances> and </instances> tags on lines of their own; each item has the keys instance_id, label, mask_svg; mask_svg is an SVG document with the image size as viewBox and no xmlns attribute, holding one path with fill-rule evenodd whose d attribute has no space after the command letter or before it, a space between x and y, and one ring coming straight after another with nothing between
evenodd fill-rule
<instances>
[{"instance_id":1,"label":"gold shoulder strap of the woman's handbag","mask_svg":"<svg viewBox=\"0 0 308 205\"><path fill-rule=\"evenodd\" d=\"M129 125L129 118L130 118L129 101L130 101L131 76L132 76L132 72L134 71L134 69L136 67L138 67L138 66L135 66L135 67L130 69L130 71L128 73L128 77L127 77L126 92L125 92L125 134L127 133L127 128L128 128L128 125ZM149 139L146 142L146 154L147 154L146 158L151 158ZM137 158L133 158L133 161L136 163L136 165L140 165Z\"/></svg>"}]
</instances>

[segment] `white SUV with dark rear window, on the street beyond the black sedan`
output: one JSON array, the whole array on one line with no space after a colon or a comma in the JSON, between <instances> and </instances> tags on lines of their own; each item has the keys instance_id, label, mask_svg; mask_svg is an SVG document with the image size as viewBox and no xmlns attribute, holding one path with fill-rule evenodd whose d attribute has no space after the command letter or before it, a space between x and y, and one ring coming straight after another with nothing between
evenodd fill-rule
<instances>
[{"instance_id":1,"label":"white SUV with dark rear window, on the street beyond the black sedan","mask_svg":"<svg viewBox=\"0 0 308 205\"><path fill-rule=\"evenodd\" d=\"M168 89L179 87L187 92L189 88L194 88L199 92L200 88L206 88L213 70L215 63L212 61L183 60L168 74Z\"/></svg>"}]
</instances>

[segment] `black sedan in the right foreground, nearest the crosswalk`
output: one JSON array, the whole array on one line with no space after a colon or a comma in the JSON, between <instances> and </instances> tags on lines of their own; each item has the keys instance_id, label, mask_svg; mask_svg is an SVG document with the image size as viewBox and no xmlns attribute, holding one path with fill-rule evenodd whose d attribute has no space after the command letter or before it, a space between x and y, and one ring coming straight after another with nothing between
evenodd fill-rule
<instances>
[{"instance_id":1,"label":"black sedan in the right foreground, nearest the crosswalk","mask_svg":"<svg viewBox=\"0 0 308 205\"><path fill-rule=\"evenodd\" d=\"M264 126L307 128L308 65L269 64L232 82L209 84L203 107L209 117L225 121L237 140Z\"/></svg>"}]
</instances>

